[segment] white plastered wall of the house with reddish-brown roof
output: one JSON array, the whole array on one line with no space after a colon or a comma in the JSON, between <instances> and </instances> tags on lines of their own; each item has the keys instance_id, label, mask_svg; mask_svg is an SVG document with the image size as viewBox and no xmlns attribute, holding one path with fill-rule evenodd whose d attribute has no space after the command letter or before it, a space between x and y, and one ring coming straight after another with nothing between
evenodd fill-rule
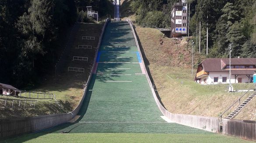
<instances>
[{"instance_id":1,"label":"white plastered wall of the house with reddish-brown roof","mask_svg":"<svg viewBox=\"0 0 256 143\"><path fill-rule=\"evenodd\" d=\"M251 75L252 76L252 75ZM218 77L218 82L214 82L214 77ZM227 77L227 82L222 82L222 77ZM217 83L229 83L229 72L210 72L208 76L201 79L201 83L204 84L203 79L207 79L206 83L217 84ZM242 83L249 82L249 79L246 75L238 75L235 80L235 75L231 75L231 83L238 83L238 78L242 78Z\"/></svg>"}]
</instances>

